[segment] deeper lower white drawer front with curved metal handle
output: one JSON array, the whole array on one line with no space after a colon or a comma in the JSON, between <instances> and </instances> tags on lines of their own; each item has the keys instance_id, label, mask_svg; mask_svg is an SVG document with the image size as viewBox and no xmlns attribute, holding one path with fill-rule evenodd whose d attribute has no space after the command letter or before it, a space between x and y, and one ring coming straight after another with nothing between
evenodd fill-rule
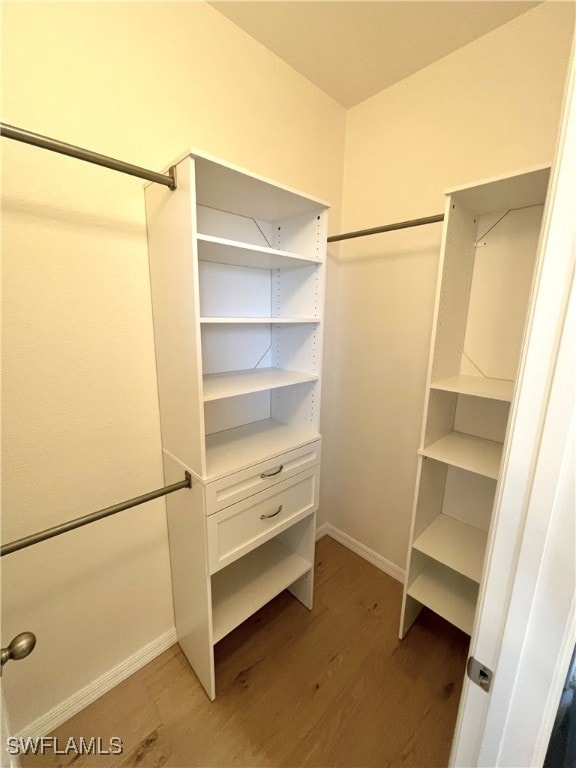
<instances>
[{"instance_id":1,"label":"deeper lower white drawer front with curved metal handle","mask_svg":"<svg viewBox=\"0 0 576 768\"><path fill-rule=\"evenodd\" d=\"M208 560L215 573L318 508L318 470L251 496L207 518Z\"/></svg>"}]
</instances>

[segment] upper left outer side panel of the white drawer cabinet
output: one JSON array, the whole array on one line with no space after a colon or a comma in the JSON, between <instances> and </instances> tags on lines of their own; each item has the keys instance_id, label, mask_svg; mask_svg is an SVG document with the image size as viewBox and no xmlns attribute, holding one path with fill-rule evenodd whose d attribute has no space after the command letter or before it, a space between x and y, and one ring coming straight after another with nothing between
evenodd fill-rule
<instances>
[{"instance_id":1,"label":"upper left outer side panel of the white drawer cabinet","mask_svg":"<svg viewBox=\"0 0 576 768\"><path fill-rule=\"evenodd\" d=\"M190 160L178 166L176 190L158 184L146 188L146 218L162 444L202 475L206 458Z\"/></svg>"}]
</instances>

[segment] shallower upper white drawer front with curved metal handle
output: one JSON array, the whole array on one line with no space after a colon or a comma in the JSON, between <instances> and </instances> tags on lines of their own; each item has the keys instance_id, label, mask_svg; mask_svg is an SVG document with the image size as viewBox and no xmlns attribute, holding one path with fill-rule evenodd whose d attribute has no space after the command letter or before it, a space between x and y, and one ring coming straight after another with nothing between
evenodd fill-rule
<instances>
[{"instance_id":1,"label":"shallower upper white drawer front with curved metal handle","mask_svg":"<svg viewBox=\"0 0 576 768\"><path fill-rule=\"evenodd\" d=\"M320 463L320 440L288 451L273 459L233 475L222 477L206 486L206 514L212 515L237 501L287 480L308 467Z\"/></svg>"}]
</instances>

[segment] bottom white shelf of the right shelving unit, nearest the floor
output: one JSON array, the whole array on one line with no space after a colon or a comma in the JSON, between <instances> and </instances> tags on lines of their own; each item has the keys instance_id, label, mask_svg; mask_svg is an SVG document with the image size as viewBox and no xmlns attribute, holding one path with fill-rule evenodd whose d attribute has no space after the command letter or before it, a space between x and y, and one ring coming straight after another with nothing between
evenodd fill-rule
<instances>
[{"instance_id":1,"label":"bottom white shelf of the right shelving unit, nearest the floor","mask_svg":"<svg viewBox=\"0 0 576 768\"><path fill-rule=\"evenodd\" d=\"M408 595L442 618L472 634L478 585L431 561L408 589Z\"/></svg>"}]
</instances>

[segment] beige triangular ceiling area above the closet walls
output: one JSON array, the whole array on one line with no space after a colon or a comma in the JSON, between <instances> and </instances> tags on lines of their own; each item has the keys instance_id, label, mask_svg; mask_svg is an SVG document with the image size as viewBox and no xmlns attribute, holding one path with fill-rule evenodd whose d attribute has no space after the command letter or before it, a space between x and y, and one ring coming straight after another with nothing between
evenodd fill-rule
<instances>
[{"instance_id":1,"label":"beige triangular ceiling area above the closet walls","mask_svg":"<svg viewBox=\"0 0 576 768\"><path fill-rule=\"evenodd\" d=\"M210 2L347 108L538 4L521 0Z\"/></svg>"}]
</instances>

